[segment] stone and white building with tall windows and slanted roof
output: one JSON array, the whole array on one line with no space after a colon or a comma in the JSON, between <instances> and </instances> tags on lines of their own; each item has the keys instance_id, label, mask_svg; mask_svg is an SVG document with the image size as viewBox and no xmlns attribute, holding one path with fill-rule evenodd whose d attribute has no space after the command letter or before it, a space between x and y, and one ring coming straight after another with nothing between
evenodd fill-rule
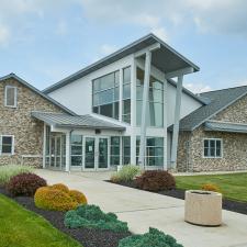
<instances>
[{"instance_id":1,"label":"stone and white building with tall windows and slanted roof","mask_svg":"<svg viewBox=\"0 0 247 247\"><path fill-rule=\"evenodd\" d=\"M247 87L195 96L182 80L197 71L149 34L43 92L15 75L0 78L0 164L66 171L127 164L181 171L245 169L247 151L239 154L247 115L239 101Z\"/></svg>"}]
</instances>

